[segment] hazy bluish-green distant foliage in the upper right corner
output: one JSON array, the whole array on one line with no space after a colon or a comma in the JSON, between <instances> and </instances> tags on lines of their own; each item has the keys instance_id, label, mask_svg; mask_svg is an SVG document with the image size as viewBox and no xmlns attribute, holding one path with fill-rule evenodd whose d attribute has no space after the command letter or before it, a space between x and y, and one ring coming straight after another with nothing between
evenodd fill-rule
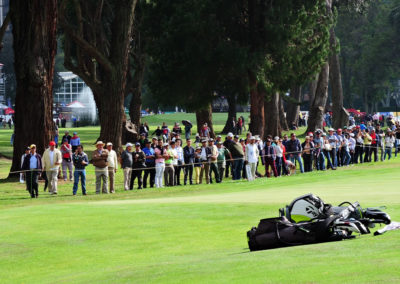
<instances>
[{"instance_id":1,"label":"hazy bluish-green distant foliage in the upper right corner","mask_svg":"<svg viewBox=\"0 0 400 284\"><path fill-rule=\"evenodd\" d=\"M348 105L367 108L390 93L400 76L399 36L390 21L398 0L374 1L364 14L341 11L336 28L341 39L343 88ZM393 15L393 14L392 14Z\"/></svg>"}]
</instances>

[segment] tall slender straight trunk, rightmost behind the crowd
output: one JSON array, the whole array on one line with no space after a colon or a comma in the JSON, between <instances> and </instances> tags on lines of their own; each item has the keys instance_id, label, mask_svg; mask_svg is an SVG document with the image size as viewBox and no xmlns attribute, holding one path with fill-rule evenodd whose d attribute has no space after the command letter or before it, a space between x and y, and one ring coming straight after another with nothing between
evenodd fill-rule
<instances>
[{"instance_id":1,"label":"tall slender straight trunk, rightmost behind the crowd","mask_svg":"<svg viewBox=\"0 0 400 284\"><path fill-rule=\"evenodd\" d=\"M330 46L332 52L329 59L329 77L332 90L332 124L333 128L338 129L348 125L349 113L343 107L342 77L340 74L339 54L336 52L336 35L333 28L330 31Z\"/></svg>"}]
</instances>

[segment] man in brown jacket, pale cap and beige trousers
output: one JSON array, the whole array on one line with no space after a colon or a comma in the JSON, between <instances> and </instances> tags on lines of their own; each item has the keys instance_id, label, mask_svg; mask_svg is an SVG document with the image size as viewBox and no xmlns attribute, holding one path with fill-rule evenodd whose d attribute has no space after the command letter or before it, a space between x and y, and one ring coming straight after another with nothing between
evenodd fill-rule
<instances>
[{"instance_id":1,"label":"man in brown jacket, pale cap and beige trousers","mask_svg":"<svg viewBox=\"0 0 400 284\"><path fill-rule=\"evenodd\" d=\"M104 145L102 141L97 141L97 149L92 154L96 174L96 194L100 194L100 189L103 193L108 193L108 151L104 149ZM101 186L102 180L103 186Z\"/></svg>"}]
</instances>

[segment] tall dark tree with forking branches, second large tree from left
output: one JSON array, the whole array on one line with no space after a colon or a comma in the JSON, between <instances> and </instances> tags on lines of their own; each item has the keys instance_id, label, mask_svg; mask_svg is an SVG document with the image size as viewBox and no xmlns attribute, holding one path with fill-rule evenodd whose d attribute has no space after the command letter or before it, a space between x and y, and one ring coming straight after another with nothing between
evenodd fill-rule
<instances>
[{"instance_id":1,"label":"tall dark tree with forking branches, second large tree from left","mask_svg":"<svg viewBox=\"0 0 400 284\"><path fill-rule=\"evenodd\" d=\"M91 88L99 140L121 145L129 51L137 0L61 0L64 65Z\"/></svg>"}]
</instances>

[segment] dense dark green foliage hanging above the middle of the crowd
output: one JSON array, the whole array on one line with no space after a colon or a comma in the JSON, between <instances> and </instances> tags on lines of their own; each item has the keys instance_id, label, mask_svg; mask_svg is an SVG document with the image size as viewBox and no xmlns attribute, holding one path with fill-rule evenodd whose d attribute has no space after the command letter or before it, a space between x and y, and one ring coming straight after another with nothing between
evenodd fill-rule
<instances>
[{"instance_id":1,"label":"dense dark green foliage hanging above the middle of the crowd","mask_svg":"<svg viewBox=\"0 0 400 284\"><path fill-rule=\"evenodd\" d=\"M250 5L250 6L249 6ZM214 91L247 94L308 81L326 62L333 17L325 0L152 1L149 87L162 104L195 110Z\"/></svg>"}]
</instances>

